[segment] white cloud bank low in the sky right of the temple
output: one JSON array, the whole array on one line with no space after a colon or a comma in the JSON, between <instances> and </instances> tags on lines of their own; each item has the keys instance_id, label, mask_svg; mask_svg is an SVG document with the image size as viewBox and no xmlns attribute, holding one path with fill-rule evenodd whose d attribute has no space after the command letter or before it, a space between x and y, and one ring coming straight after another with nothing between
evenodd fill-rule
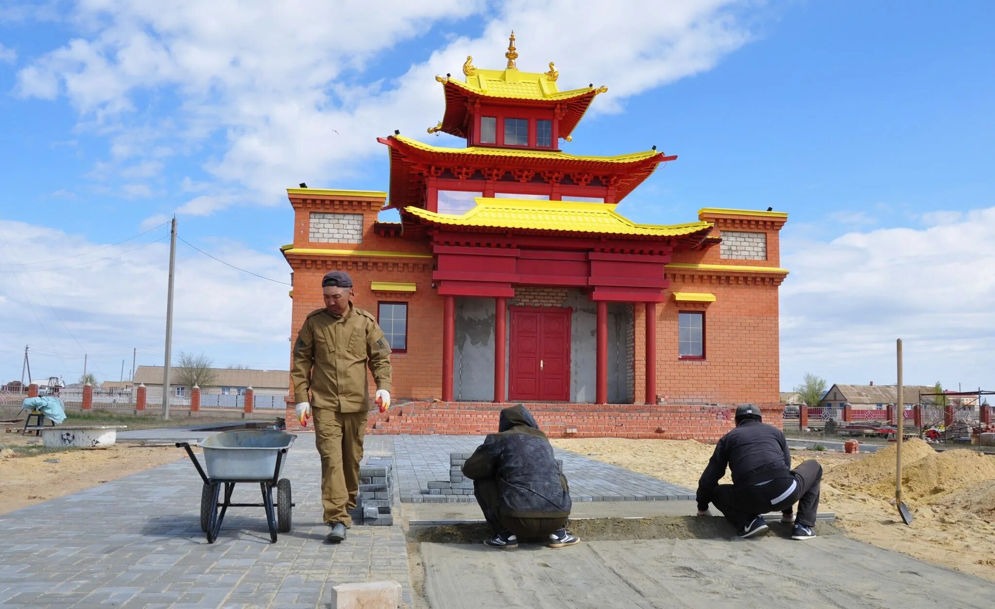
<instances>
[{"instance_id":1,"label":"white cloud bank low in the sky right of the temple","mask_svg":"<svg viewBox=\"0 0 995 609\"><path fill-rule=\"evenodd\" d=\"M808 371L831 383L895 382L896 338L907 383L995 386L995 207L945 220L784 256L783 387Z\"/></svg>"}]
</instances>

